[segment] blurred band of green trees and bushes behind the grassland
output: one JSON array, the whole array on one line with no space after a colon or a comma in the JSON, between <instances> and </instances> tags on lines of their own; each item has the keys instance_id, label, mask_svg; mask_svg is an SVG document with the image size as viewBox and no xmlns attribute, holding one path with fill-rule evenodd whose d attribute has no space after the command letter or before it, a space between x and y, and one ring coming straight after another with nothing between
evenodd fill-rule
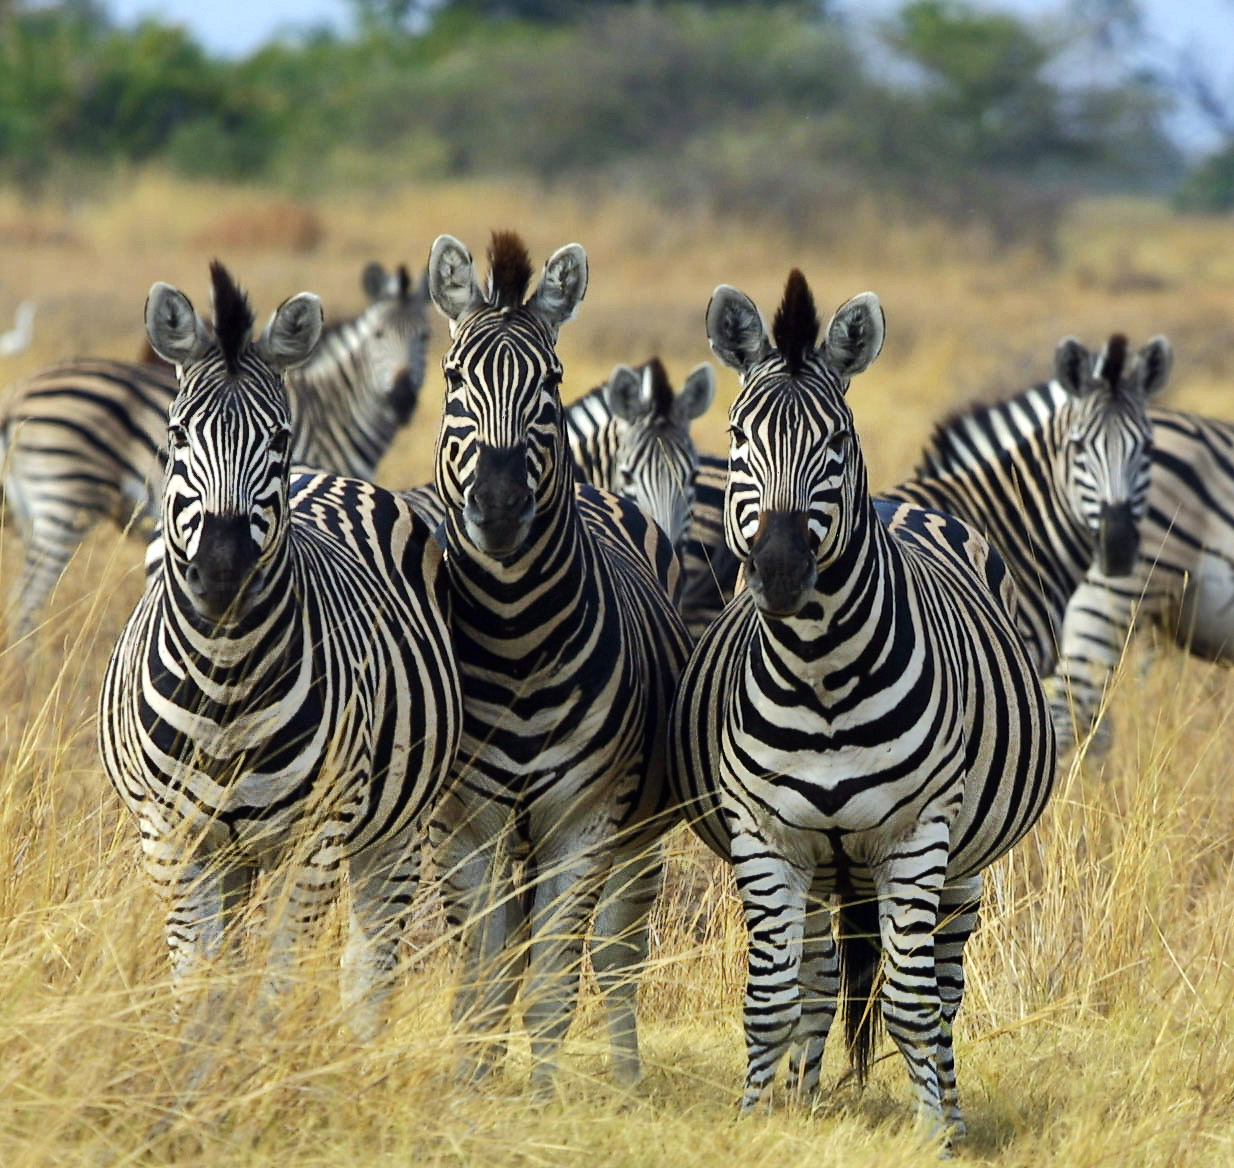
<instances>
[{"instance_id":1,"label":"blurred band of green trees and bushes behind the grassland","mask_svg":"<svg viewBox=\"0 0 1234 1168\"><path fill-rule=\"evenodd\" d=\"M872 195L1046 250L1080 195L1234 206L1234 148L1188 167L1164 128L1174 86L1075 68L1116 59L1134 4L1071 14L908 0L869 37L817 0L353 0L353 33L232 60L93 0L0 0L0 181L72 195L151 162L301 195L517 176L795 231Z\"/></svg>"}]
</instances>

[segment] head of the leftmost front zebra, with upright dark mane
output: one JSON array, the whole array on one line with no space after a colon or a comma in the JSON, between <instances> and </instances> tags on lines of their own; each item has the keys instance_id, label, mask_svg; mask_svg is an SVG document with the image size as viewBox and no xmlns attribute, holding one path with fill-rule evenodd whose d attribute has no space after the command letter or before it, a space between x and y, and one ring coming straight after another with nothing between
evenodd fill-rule
<instances>
[{"instance_id":1,"label":"head of the leftmost front zebra, with upright dark mane","mask_svg":"<svg viewBox=\"0 0 1234 1168\"><path fill-rule=\"evenodd\" d=\"M252 339L253 310L222 264L210 266L213 327L169 284L146 301L151 345L175 365L163 497L173 590L212 624L262 594L286 543L291 417L283 372L321 335L321 301L285 301Z\"/></svg>"}]
</instances>

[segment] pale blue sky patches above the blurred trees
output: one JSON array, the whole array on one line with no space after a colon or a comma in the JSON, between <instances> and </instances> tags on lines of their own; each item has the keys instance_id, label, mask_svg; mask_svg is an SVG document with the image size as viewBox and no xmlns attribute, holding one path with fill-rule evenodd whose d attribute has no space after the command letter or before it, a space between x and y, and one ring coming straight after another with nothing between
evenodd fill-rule
<instances>
[{"instance_id":1,"label":"pale blue sky patches above the blurred trees","mask_svg":"<svg viewBox=\"0 0 1234 1168\"><path fill-rule=\"evenodd\" d=\"M580 0L582 2L582 0ZM902 0L840 0L855 22L893 11ZM974 0L980 7L1007 7L1048 15L1069 7L1066 0ZM206 48L243 56L280 31L302 31L328 25L348 27L347 0L105 0L107 9L127 23L141 16L186 25ZM1204 63L1234 107L1234 0L1140 0L1153 42L1149 62L1176 67L1181 54ZM1178 132L1193 146L1206 144L1207 127L1196 117L1177 120Z\"/></svg>"}]
</instances>

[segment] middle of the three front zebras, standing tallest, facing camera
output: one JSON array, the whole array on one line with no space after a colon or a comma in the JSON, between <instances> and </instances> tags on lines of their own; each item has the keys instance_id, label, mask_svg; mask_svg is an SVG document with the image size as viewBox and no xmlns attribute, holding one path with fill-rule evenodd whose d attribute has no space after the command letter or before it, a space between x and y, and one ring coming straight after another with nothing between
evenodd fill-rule
<instances>
[{"instance_id":1,"label":"middle of the three front zebras, standing tallest, facing camera","mask_svg":"<svg viewBox=\"0 0 1234 1168\"><path fill-rule=\"evenodd\" d=\"M586 291L584 249L557 250L531 296L517 236L494 234L489 265L485 289L450 236L428 261L452 337L436 485L463 675L463 745L431 839L463 940L454 1018L476 1038L460 1071L499 1057L492 1032L522 982L532 1085L545 1092L592 915L613 1071L639 1073L632 972L647 953L664 734L687 645L668 538L575 482L555 344Z\"/></svg>"}]
</instances>

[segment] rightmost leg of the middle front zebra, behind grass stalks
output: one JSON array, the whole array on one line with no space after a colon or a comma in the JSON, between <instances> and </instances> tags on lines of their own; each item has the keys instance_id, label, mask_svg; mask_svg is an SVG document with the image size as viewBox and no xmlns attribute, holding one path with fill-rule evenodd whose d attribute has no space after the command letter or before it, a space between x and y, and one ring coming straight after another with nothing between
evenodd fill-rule
<instances>
[{"instance_id":1,"label":"rightmost leg of the middle front zebra, behind grass stalks","mask_svg":"<svg viewBox=\"0 0 1234 1168\"><path fill-rule=\"evenodd\" d=\"M640 849L613 866L592 929L591 964L608 1011L613 1078L627 1087L642 1073L638 1056L638 981L647 962L648 924L660 889L663 847Z\"/></svg>"}]
</instances>

